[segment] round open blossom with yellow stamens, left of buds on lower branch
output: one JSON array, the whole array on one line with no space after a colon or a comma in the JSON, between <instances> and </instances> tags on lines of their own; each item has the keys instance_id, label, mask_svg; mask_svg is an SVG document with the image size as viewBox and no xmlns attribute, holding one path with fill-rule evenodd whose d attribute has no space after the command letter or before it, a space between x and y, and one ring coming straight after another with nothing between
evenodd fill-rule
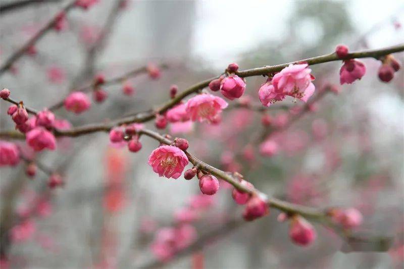
<instances>
[{"instance_id":1,"label":"round open blossom with yellow stamens, left of buds on lower branch","mask_svg":"<svg viewBox=\"0 0 404 269\"><path fill-rule=\"evenodd\" d=\"M160 177L177 179L188 164L188 158L178 147L162 145L151 152L147 163Z\"/></svg>"}]
</instances>

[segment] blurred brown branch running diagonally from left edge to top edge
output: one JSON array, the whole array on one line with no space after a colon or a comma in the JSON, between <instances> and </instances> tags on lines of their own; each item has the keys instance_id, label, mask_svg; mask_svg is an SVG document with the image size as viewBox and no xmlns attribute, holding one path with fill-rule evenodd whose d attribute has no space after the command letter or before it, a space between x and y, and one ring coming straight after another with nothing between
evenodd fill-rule
<instances>
[{"instance_id":1,"label":"blurred brown branch running diagonally from left edge to top edge","mask_svg":"<svg viewBox=\"0 0 404 269\"><path fill-rule=\"evenodd\" d=\"M68 5L66 5L63 9L58 11L60 12L68 12L70 9L74 7L76 0L72 0ZM42 27L31 39L29 39L22 47L20 47L16 52L14 52L9 59L0 67L0 76L4 74L10 67L18 60L24 53L27 51L29 47L34 45L40 38L42 38L45 33L51 30L57 21L57 16L54 15L51 20L49 20L45 26Z\"/></svg>"}]
</instances>

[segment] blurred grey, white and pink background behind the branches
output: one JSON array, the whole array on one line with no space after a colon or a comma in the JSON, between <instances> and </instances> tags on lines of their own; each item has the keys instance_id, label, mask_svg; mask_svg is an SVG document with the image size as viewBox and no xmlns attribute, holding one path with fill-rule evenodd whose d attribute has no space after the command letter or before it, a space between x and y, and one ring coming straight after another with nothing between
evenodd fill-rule
<instances>
[{"instance_id":1,"label":"blurred grey, white and pink background behind the branches","mask_svg":"<svg viewBox=\"0 0 404 269\"><path fill-rule=\"evenodd\" d=\"M0 5L17 1L3 0ZM8 59L69 1L49 1L0 12L0 57ZM33 56L22 57L0 79L0 86L29 107L41 110L71 89L88 85L103 73L107 80L149 63L165 63L161 78L147 74L129 79L135 94L122 84L106 86L108 98L74 115L64 108L58 118L73 126L117 119L145 111L169 99L169 88L182 91L216 76L232 62L241 70L323 55L337 44L350 50L402 43L402 1L117 1L100 0L88 11L72 9L68 29L51 31ZM103 44L92 49L100 33ZM95 52L91 52L95 50ZM394 57L403 63L403 54ZM261 191L295 203L353 206L364 215L358 232L391 236L387 252L340 251L341 239L316 225L318 239L308 248L292 244L288 225L276 221L277 210L252 223L229 222L242 206L222 185L208 208L192 225L196 239L209 240L193 251L174 255L167 268L391 268L404 258L403 221L403 72L390 83L377 77L380 62L363 59L367 73L352 85L339 85L341 63L313 66L316 91L326 83L338 86L312 111L277 134L278 152L260 155L257 134L262 113L246 109L223 112L219 125L195 124L165 133L189 140L189 151L226 171L238 171ZM54 71L52 71L54 70ZM55 70L58 70L57 72ZM55 75L57 73L57 75ZM246 78L246 95L259 102L263 77ZM282 102L301 106L292 99ZM0 102L4 130L14 125L9 106ZM276 107L276 106L275 106ZM293 112L293 110L292 110ZM279 109L267 111L275 123ZM145 125L155 129L153 122ZM182 131L182 132L179 132ZM150 248L156 232L175 225L175 212L200 193L196 179L159 178L147 165L156 141L142 137L143 148L131 153L112 146L96 133L63 138L56 151L36 154L38 162L62 174L65 186L47 192L48 176L25 175L23 162L1 168L1 231L3 255L11 268L126 268L159 261ZM20 146L25 147L21 141ZM251 153L252 152L252 153ZM30 154L29 152L27 154ZM251 157L254 156L255 158ZM22 214L38 197L45 209L31 213L32 236L10 239ZM35 205L35 207L38 207ZM226 226L227 225L227 226ZM217 232L220 227L225 229ZM227 227L227 228L226 228ZM216 234L212 235L212 231ZM8 238L8 240L6 240ZM198 267L199 266L199 267Z\"/></svg>"}]
</instances>

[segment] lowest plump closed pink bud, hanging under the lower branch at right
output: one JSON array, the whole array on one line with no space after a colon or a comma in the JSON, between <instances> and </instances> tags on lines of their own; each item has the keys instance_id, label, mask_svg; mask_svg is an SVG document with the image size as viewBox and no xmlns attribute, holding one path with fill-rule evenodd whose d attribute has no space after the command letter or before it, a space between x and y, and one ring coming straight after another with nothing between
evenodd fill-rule
<instances>
[{"instance_id":1,"label":"lowest plump closed pink bud, hanging under the lower branch at right","mask_svg":"<svg viewBox=\"0 0 404 269\"><path fill-rule=\"evenodd\" d=\"M290 221L289 236L293 243L301 246L310 245L317 237L314 227L300 216Z\"/></svg>"}]
</instances>

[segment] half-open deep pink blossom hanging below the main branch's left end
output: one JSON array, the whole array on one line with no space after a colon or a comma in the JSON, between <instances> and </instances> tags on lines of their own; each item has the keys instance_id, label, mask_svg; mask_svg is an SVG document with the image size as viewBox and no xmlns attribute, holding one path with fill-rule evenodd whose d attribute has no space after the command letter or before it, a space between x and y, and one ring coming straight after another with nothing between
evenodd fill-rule
<instances>
[{"instance_id":1,"label":"half-open deep pink blossom hanging below the main branch's left end","mask_svg":"<svg viewBox=\"0 0 404 269\"><path fill-rule=\"evenodd\" d=\"M43 127L35 127L26 133L27 144L35 151L40 151L44 148L54 150L56 148L56 138L53 133Z\"/></svg>"}]
</instances>

